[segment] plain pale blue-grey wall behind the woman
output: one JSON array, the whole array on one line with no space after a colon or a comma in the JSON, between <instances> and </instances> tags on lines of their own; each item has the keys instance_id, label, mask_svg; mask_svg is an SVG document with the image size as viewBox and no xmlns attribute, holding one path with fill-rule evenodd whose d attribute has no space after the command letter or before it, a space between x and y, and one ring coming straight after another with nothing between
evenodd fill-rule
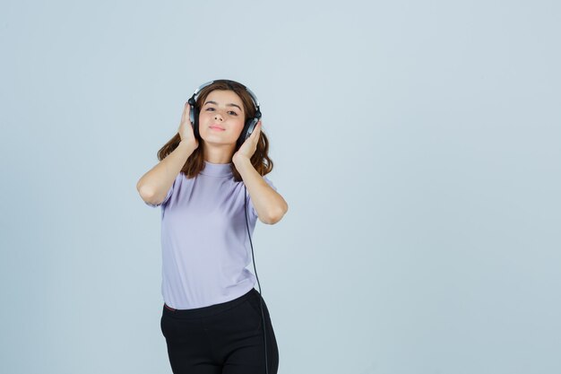
<instances>
[{"instance_id":1,"label":"plain pale blue-grey wall behind the woman","mask_svg":"<svg viewBox=\"0 0 561 374\"><path fill-rule=\"evenodd\" d=\"M0 5L0 371L171 372L135 184L229 78L289 203L280 373L560 372L559 3L197 3Z\"/></svg>"}]
</instances>

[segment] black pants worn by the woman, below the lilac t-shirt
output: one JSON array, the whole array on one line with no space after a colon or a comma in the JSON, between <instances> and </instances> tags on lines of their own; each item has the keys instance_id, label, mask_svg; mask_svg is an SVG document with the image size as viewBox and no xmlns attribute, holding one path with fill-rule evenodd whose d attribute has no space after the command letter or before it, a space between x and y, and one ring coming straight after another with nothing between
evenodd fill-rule
<instances>
[{"instance_id":1,"label":"black pants worn by the woman, below the lilac t-shirt","mask_svg":"<svg viewBox=\"0 0 561 374\"><path fill-rule=\"evenodd\" d=\"M265 374L261 295L255 288L237 299L197 309L164 304L161 332L174 374ZM269 374L279 368L279 348L263 298Z\"/></svg>"}]
</instances>

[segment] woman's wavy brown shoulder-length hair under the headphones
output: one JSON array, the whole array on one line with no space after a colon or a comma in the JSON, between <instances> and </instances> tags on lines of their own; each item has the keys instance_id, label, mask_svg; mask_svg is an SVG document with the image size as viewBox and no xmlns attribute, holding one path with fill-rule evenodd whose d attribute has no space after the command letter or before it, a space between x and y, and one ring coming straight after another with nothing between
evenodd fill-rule
<instances>
[{"instance_id":1,"label":"woman's wavy brown shoulder-length hair under the headphones","mask_svg":"<svg viewBox=\"0 0 561 374\"><path fill-rule=\"evenodd\" d=\"M251 98L251 95L246 91L246 87L240 83L229 81L229 80L218 80L214 81L210 85L206 86L199 92L197 97L195 107L198 110L201 110L202 104L206 97L211 93L211 91L220 90L220 91L234 91L237 96L242 100L244 104L244 112L246 114L244 118L244 123L247 121L247 118L251 118L255 116L255 105L254 101ZM193 153L187 159L185 165L181 169L187 178L194 178L196 177L201 170L204 169L204 142L200 136L197 136L197 140L199 141L199 146L197 149L194 150ZM177 146L181 142L181 136L179 133L174 135L171 139L169 139L168 143L166 143L163 147L160 148L158 151L158 160L162 161L168 154L173 152ZM236 145L236 149L234 152L237 152L239 146ZM257 148L255 149L255 153L251 156L251 164L254 166L255 170L260 175L269 174L272 170L272 160L269 157L269 139L267 139L267 135L263 133L263 129L261 130L261 134L259 135L259 140L257 141ZM241 175L236 169L234 163L232 163L232 172L234 173L234 179L237 181L242 180Z\"/></svg>"}]
</instances>

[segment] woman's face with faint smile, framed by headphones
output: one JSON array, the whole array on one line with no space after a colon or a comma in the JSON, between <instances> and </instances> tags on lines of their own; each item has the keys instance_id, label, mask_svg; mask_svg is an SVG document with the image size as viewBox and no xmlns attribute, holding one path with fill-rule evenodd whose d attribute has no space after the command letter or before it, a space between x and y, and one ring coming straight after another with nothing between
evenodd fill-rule
<instances>
[{"instance_id":1,"label":"woman's face with faint smile, framed by headphones","mask_svg":"<svg viewBox=\"0 0 561 374\"><path fill-rule=\"evenodd\" d=\"M199 112L199 134L209 144L236 144L245 118L242 100L234 91L211 91Z\"/></svg>"}]
</instances>

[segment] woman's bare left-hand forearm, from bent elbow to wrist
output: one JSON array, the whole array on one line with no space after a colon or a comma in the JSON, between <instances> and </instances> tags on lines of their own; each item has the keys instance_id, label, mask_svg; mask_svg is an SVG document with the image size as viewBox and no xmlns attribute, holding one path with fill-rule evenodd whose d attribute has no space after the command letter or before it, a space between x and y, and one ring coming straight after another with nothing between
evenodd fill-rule
<instances>
[{"instance_id":1,"label":"woman's bare left-hand forearm, from bent elbow to wrist","mask_svg":"<svg viewBox=\"0 0 561 374\"><path fill-rule=\"evenodd\" d=\"M173 152L148 170L136 183L136 189L142 200L149 204L160 204L195 149L193 144L187 144L182 140Z\"/></svg>"}]
</instances>

